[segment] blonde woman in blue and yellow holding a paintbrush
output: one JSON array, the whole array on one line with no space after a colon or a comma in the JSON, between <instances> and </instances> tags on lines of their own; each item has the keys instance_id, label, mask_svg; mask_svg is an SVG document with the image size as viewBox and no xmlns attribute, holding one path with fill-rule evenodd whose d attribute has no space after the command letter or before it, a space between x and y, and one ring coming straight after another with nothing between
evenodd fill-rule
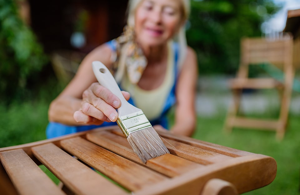
<instances>
[{"instance_id":1,"label":"blonde woman in blue and yellow holding a paintbrush","mask_svg":"<svg viewBox=\"0 0 300 195\"><path fill-rule=\"evenodd\" d=\"M186 46L188 14L189 0L130 0L123 35L89 53L73 80L50 104L47 137L111 125L117 120L121 102L98 84L93 61L112 70L125 90L124 97L143 110L155 129L168 128L166 113L176 103L170 131L191 136L196 123L197 59Z\"/></svg>"}]
</instances>

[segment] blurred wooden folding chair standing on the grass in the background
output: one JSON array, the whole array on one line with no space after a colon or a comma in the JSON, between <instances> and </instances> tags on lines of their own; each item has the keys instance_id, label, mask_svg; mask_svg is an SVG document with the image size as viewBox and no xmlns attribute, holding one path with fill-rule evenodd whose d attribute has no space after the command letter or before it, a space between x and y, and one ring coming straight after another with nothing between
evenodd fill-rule
<instances>
[{"instance_id":1,"label":"blurred wooden folding chair standing on the grass in the background","mask_svg":"<svg viewBox=\"0 0 300 195\"><path fill-rule=\"evenodd\" d=\"M297 54L299 55L299 54ZM233 127L274 130L278 139L284 137L294 78L293 40L286 36L272 40L267 38L243 38L241 40L240 66L237 78L230 80L233 92L233 104L228 110L225 129L231 132ZM281 78L267 76L249 78L250 65L270 65L281 70ZM278 89L280 95L280 113L278 119L253 119L238 114L243 89Z\"/></svg>"}]
</instances>

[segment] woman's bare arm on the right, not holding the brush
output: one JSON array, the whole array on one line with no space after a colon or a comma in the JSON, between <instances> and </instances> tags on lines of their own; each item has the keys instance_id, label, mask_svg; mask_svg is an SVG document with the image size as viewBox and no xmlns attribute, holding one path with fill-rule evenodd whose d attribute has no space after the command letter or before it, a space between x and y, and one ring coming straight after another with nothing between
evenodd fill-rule
<instances>
[{"instance_id":1,"label":"woman's bare arm on the right, not holding the brush","mask_svg":"<svg viewBox=\"0 0 300 195\"><path fill-rule=\"evenodd\" d=\"M187 56L181 68L176 87L175 124L171 129L174 134L191 136L196 128L197 73L196 53L188 47Z\"/></svg>"}]
</instances>

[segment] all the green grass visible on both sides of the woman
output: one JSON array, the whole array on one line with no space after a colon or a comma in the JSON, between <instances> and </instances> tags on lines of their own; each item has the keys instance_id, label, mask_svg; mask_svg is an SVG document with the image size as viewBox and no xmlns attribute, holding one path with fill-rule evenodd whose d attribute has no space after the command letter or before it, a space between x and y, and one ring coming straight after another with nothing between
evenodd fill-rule
<instances>
[{"instance_id":1,"label":"all the green grass visible on both sides of the woman","mask_svg":"<svg viewBox=\"0 0 300 195\"><path fill-rule=\"evenodd\" d=\"M29 143L46 139L47 109L49 101L32 100L0 104L0 147ZM275 132L234 129L226 134L222 128L225 110L218 116L198 117L194 138L227 147L264 154L277 161L277 176L266 187L245 194L295 195L299 193L300 175L300 120L298 115L290 115L287 132L282 141L277 141ZM41 166L47 174L46 168ZM55 180L55 177L53 177ZM57 183L58 181L55 180Z\"/></svg>"}]
</instances>

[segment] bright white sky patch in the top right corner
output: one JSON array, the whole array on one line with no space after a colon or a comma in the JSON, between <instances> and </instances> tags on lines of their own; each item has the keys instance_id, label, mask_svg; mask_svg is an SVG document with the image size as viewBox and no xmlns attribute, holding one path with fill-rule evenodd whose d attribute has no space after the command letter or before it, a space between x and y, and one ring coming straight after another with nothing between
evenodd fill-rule
<instances>
[{"instance_id":1,"label":"bright white sky patch in the top right corner","mask_svg":"<svg viewBox=\"0 0 300 195\"><path fill-rule=\"evenodd\" d=\"M287 10L300 9L300 0L273 0L283 7L270 20L262 24L262 31L265 33L280 32L287 22Z\"/></svg>"}]
</instances>

